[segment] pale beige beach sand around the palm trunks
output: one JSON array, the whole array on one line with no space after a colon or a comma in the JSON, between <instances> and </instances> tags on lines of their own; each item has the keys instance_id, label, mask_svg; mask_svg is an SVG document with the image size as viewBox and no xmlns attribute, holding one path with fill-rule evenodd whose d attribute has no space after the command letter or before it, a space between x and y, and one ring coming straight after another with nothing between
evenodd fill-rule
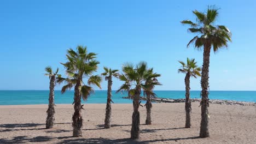
<instances>
[{"instance_id":1,"label":"pale beige beach sand around the palm trunks","mask_svg":"<svg viewBox=\"0 0 256 144\"><path fill-rule=\"evenodd\" d=\"M85 104L83 137L72 137L73 105L56 106L55 125L45 129L48 105L0 106L0 143L256 143L256 106L210 104L210 136L200 139L201 107L192 103L185 129L184 103L153 104L152 125L140 107L140 139L130 139L132 104L112 105L112 128L103 129L106 104Z\"/></svg>"}]
</instances>

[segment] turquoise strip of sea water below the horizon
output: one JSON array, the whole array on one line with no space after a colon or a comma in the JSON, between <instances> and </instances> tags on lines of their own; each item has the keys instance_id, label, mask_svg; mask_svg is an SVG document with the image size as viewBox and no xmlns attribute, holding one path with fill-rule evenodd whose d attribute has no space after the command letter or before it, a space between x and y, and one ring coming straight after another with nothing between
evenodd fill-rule
<instances>
[{"instance_id":1,"label":"turquoise strip of sea water below the horizon","mask_svg":"<svg viewBox=\"0 0 256 144\"><path fill-rule=\"evenodd\" d=\"M184 98L185 91L155 91L159 98ZM28 105L28 104L48 104L49 91L0 91L0 105ZM72 104L74 91L67 91L61 94L55 91L56 104ZM132 103L129 99L123 99L127 93L115 93L113 91L113 101L117 104ZM82 103L104 104L106 103L107 91L95 91L87 101ZM200 91L191 91L191 98L200 98ZM256 91L211 91L210 99L237 100L256 102Z\"/></svg>"}]
</instances>

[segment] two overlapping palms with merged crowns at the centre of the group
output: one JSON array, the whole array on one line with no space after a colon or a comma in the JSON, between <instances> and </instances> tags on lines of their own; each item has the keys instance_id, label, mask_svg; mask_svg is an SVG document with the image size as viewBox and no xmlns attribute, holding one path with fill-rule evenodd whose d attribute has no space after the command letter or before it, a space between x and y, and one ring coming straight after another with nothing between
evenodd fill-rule
<instances>
[{"instance_id":1,"label":"two overlapping palms with merged crowns at the centre of the group","mask_svg":"<svg viewBox=\"0 0 256 144\"><path fill-rule=\"evenodd\" d=\"M146 124L151 124L151 98L155 96L153 89L155 85L161 85L157 77L160 74L154 73L153 68L148 69L146 62L140 62L137 65L132 63L125 63L123 65L123 74L119 76L119 79L124 82L117 92L127 91L132 96L133 113L132 113L132 129L131 139L139 138L139 106L141 105L140 96L141 91L147 95L147 119Z\"/></svg>"}]
</instances>

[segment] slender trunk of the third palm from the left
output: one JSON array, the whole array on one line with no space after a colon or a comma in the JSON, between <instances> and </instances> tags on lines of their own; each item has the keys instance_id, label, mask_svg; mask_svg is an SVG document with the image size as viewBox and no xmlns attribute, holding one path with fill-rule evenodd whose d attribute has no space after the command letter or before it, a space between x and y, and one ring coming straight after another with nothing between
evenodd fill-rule
<instances>
[{"instance_id":1,"label":"slender trunk of the third palm from the left","mask_svg":"<svg viewBox=\"0 0 256 144\"><path fill-rule=\"evenodd\" d=\"M112 77L108 78L108 98L107 98L107 106L106 106L106 117L104 128L110 128L110 117L111 117L111 97L112 97Z\"/></svg>"}]
</instances>

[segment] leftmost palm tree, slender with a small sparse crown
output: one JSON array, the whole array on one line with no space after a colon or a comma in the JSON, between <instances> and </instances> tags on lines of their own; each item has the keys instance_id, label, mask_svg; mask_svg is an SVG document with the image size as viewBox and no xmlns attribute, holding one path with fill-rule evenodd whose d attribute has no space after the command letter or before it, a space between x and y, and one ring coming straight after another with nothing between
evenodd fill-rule
<instances>
[{"instance_id":1,"label":"leftmost palm tree, slender with a small sparse crown","mask_svg":"<svg viewBox=\"0 0 256 144\"><path fill-rule=\"evenodd\" d=\"M45 76L49 76L50 79L50 93L49 93L49 104L48 104L48 110L46 111L47 113L47 118L46 118L46 129L50 129L53 128L54 125L54 113L55 113L55 109L54 109L54 87L55 87L55 83L56 83L56 76L57 77L61 77L61 75L57 74L59 71L59 68L57 68L57 70L55 71L55 73L53 72L53 70L51 69L50 66L45 67L45 71L46 74L44 74Z\"/></svg>"}]
</instances>

